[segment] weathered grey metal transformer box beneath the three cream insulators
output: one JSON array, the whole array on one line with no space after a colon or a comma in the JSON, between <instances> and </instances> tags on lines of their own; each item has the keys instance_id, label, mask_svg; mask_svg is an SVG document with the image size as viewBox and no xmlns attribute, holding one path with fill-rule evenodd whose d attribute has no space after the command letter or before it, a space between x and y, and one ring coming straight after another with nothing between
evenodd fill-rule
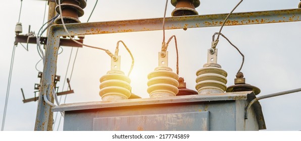
<instances>
[{"instance_id":1,"label":"weathered grey metal transformer box beneath the three cream insulators","mask_svg":"<svg viewBox=\"0 0 301 141\"><path fill-rule=\"evenodd\" d=\"M62 104L64 130L259 130L266 129L253 92Z\"/></svg>"}]
</instances>

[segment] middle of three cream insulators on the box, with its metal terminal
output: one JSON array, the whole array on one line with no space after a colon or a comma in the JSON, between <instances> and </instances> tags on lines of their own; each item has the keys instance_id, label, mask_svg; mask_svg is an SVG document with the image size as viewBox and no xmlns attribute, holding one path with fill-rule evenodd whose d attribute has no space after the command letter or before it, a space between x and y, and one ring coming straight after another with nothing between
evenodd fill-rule
<instances>
[{"instance_id":1,"label":"middle of three cream insulators on the box, with its metal terminal","mask_svg":"<svg viewBox=\"0 0 301 141\"><path fill-rule=\"evenodd\" d=\"M168 52L163 52L164 55L161 53L159 52L159 66L147 76L147 93L152 98L176 96L179 92L179 76L168 67Z\"/></svg>"}]
</instances>

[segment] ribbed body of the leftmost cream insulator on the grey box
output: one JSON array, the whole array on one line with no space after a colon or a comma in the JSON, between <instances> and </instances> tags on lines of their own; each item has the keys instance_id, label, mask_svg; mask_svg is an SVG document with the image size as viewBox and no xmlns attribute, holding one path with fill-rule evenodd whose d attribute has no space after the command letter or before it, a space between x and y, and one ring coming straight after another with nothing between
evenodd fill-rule
<instances>
[{"instance_id":1,"label":"ribbed body of the leftmost cream insulator on the grey box","mask_svg":"<svg viewBox=\"0 0 301 141\"><path fill-rule=\"evenodd\" d=\"M131 96L131 80L121 70L110 70L99 81L99 95L103 100L122 100Z\"/></svg>"}]
</instances>

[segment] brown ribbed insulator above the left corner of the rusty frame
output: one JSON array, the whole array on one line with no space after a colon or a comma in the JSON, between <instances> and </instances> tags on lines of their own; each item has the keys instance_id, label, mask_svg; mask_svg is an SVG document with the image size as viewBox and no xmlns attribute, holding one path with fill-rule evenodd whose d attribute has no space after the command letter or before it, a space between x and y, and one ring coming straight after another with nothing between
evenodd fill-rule
<instances>
[{"instance_id":1,"label":"brown ribbed insulator above the left corner of the rusty frame","mask_svg":"<svg viewBox=\"0 0 301 141\"><path fill-rule=\"evenodd\" d=\"M56 7L56 11L62 15L64 23L80 23L78 18L84 15L83 9L87 5L86 0L56 0L58 5L59 1L61 1L62 14L59 6ZM61 18L56 19L55 23L62 24Z\"/></svg>"}]
</instances>

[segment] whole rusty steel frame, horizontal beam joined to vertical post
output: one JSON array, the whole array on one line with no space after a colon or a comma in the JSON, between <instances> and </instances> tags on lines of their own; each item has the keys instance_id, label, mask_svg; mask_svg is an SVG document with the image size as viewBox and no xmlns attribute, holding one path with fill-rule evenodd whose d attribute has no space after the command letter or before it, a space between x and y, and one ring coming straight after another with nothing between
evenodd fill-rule
<instances>
[{"instance_id":1,"label":"whole rusty steel frame, horizontal beam joined to vertical post","mask_svg":"<svg viewBox=\"0 0 301 141\"><path fill-rule=\"evenodd\" d=\"M202 28L221 26L228 14L197 15L166 18L165 29ZM66 24L71 35L107 34L137 31L162 30L163 18L139 19L126 21L110 21L96 23ZM225 26L267 24L301 21L301 9L233 13ZM42 98L43 94L48 99L52 97L52 91L47 93L47 85L54 84L54 76L57 67L57 58L60 37L67 36L62 25L54 25L49 30L43 77L36 115L35 130L46 130L51 108ZM51 86L53 87L53 86Z\"/></svg>"}]
</instances>

